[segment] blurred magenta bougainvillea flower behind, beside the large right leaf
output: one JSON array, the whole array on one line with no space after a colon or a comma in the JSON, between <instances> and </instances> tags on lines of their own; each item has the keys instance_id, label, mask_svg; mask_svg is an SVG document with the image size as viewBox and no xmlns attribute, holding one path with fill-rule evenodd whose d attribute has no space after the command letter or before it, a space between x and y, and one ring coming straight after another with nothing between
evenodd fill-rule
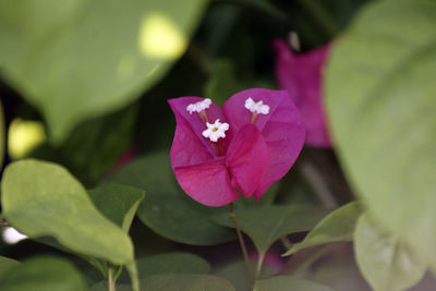
<instances>
[{"instance_id":1,"label":"blurred magenta bougainvillea flower behind, beside the large right leaf","mask_svg":"<svg viewBox=\"0 0 436 291\"><path fill-rule=\"evenodd\" d=\"M275 40L274 46L276 78L279 87L289 92L300 109L306 128L305 144L330 147L322 92L323 68L329 46L299 54L293 54L283 40Z\"/></svg>"}]
</instances>

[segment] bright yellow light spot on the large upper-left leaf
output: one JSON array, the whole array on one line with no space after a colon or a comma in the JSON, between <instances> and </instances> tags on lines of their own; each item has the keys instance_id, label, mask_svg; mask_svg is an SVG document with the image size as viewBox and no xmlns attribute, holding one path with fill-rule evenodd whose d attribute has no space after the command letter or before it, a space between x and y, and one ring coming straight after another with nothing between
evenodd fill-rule
<instances>
[{"instance_id":1,"label":"bright yellow light spot on the large upper-left leaf","mask_svg":"<svg viewBox=\"0 0 436 291\"><path fill-rule=\"evenodd\" d=\"M162 13L148 14L140 31L140 49L145 57L179 58L186 49L186 38L177 24Z\"/></svg>"}]
</instances>

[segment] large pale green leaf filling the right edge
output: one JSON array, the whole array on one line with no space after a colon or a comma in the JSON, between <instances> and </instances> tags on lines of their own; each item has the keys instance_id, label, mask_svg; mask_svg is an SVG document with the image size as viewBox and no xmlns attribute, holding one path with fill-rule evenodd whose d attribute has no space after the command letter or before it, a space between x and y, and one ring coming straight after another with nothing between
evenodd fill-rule
<instances>
[{"instance_id":1,"label":"large pale green leaf filling the right edge","mask_svg":"<svg viewBox=\"0 0 436 291\"><path fill-rule=\"evenodd\" d=\"M375 1L337 43L327 107L368 209L436 265L436 2Z\"/></svg>"}]
</instances>

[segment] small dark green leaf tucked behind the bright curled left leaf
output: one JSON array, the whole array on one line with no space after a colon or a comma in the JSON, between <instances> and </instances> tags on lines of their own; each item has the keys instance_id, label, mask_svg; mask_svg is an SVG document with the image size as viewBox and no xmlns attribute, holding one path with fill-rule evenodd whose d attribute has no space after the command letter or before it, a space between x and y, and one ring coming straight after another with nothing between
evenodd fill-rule
<instances>
[{"instance_id":1,"label":"small dark green leaf tucked behind the bright curled left leaf","mask_svg":"<svg viewBox=\"0 0 436 291\"><path fill-rule=\"evenodd\" d=\"M101 214L128 233L145 192L126 185L106 184L89 190L88 195Z\"/></svg>"}]
</instances>

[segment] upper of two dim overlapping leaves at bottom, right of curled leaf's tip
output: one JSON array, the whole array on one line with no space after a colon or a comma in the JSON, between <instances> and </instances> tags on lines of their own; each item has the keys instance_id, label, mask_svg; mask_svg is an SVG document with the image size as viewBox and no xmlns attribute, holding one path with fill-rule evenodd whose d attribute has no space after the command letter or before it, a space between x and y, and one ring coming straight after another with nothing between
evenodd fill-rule
<instances>
[{"instance_id":1,"label":"upper of two dim overlapping leaves at bottom, right of curled leaf's tip","mask_svg":"<svg viewBox=\"0 0 436 291\"><path fill-rule=\"evenodd\" d=\"M165 253L136 259L140 278L158 274L208 274L210 265L201 256L190 253ZM126 281L121 275L120 282Z\"/></svg>"}]
</instances>

